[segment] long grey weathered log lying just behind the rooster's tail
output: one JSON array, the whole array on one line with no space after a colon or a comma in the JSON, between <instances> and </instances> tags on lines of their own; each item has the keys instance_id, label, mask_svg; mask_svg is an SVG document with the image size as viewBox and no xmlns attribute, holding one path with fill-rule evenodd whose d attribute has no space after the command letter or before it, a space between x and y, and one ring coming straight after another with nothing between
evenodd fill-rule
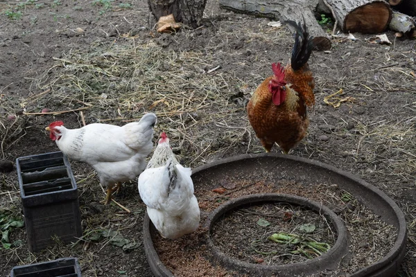
<instances>
[{"instance_id":1,"label":"long grey weathered log lying just behind the rooster's tail","mask_svg":"<svg viewBox=\"0 0 416 277\"><path fill-rule=\"evenodd\" d=\"M309 33L314 37L315 50L324 51L331 48L329 35L322 30L313 15L318 0L219 0L219 4L220 8L226 10L278 19L282 22L286 20L302 22L304 19Z\"/></svg>"}]
</instances>

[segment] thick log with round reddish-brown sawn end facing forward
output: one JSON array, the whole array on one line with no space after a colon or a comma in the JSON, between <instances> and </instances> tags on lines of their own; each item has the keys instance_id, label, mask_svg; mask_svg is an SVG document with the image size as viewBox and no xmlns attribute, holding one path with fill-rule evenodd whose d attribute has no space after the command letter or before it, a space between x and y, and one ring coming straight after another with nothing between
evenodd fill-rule
<instances>
[{"instance_id":1,"label":"thick log with round reddish-brown sawn end facing forward","mask_svg":"<svg viewBox=\"0 0 416 277\"><path fill-rule=\"evenodd\" d=\"M390 6L383 0L326 1L331 5L344 33L381 33L392 18Z\"/></svg>"}]
</instances>

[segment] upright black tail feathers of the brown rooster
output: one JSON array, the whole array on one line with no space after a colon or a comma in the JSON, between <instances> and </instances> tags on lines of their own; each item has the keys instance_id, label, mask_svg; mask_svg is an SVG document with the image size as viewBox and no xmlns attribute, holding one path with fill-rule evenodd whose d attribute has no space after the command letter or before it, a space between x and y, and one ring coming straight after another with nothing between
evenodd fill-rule
<instances>
[{"instance_id":1,"label":"upright black tail feathers of the brown rooster","mask_svg":"<svg viewBox=\"0 0 416 277\"><path fill-rule=\"evenodd\" d=\"M302 68L306 62L308 62L309 57L311 57L313 49L313 37L308 33L308 28L306 28L306 23L301 24L296 23L295 21L288 20L285 22L295 28L295 44L293 45L292 57L291 57L291 66L294 71Z\"/></svg>"}]
</instances>

